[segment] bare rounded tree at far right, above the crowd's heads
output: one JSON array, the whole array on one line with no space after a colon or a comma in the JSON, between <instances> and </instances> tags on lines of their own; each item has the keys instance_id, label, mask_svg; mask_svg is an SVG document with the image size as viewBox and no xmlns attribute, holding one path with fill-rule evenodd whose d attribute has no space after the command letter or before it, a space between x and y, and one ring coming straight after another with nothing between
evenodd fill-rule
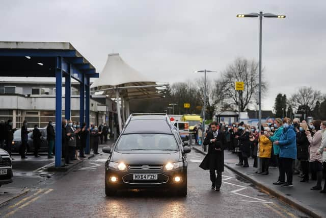
<instances>
[{"instance_id":1,"label":"bare rounded tree at far right, above the crowd's heads","mask_svg":"<svg viewBox=\"0 0 326 218\"><path fill-rule=\"evenodd\" d=\"M304 86L291 95L289 105L296 110L298 110L300 106L306 106L312 111L316 102L321 102L322 100L323 97L320 91L313 90L312 87Z\"/></svg>"}]
</instances>

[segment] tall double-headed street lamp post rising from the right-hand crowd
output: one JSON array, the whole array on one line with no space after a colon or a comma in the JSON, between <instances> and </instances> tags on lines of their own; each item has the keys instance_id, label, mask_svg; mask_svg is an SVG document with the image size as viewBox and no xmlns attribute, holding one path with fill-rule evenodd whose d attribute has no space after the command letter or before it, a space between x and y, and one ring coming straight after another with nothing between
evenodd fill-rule
<instances>
[{"instance_id":1,"label":"tall double-headed street lamp post rising from the right-hand crowd","mask_svg":"<svg viewBox=\"0 0 326 218\"><path fill-rule=\"evenodd\" d=\"M250 14L238 14L236 15L238 18L243 18L243 17L258 17L259 16L259 92L258 92L258 107L259 107L259 112L258 112L258 130L261 131L261 43L262 43L262 21L263 17L266 18L285 18L285 15L276 15L276 14L271 14L271 13L265 13L263 14L262 11L258 13L250 13ZM261 171L261 160L258 158L258 166L259 170L258 172L260 173Z\"/></svg>"}]
</instances>

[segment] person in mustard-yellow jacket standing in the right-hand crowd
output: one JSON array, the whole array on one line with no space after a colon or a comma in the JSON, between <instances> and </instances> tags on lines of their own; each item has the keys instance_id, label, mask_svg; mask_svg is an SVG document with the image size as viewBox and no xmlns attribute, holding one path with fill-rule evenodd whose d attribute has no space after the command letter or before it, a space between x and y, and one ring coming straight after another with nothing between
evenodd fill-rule
<instances>
[{"instance_id":1,"label":"person in mustard-yellow jacket standing in the right-hand crowd","mask_svg":"<svg viewBox=\"0 0 326 218\"><path fill-rule=\"evenodd\" d=\"M270 132L269 127L264 127L264 134ZM261 175L268 175L269 159L271 156L271 147L273 143L265 136L259 133L259 157L262 160Z\"/></svg>"}]
</instances>

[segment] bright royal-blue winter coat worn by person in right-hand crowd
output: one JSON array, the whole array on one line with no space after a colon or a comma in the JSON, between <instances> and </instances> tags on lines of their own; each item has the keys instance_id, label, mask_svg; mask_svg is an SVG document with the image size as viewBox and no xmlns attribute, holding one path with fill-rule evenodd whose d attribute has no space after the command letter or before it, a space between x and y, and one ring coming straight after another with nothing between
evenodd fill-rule
<instances>
[{"instance_id":1,"label":"bright royal-blue winter coat worn by person in right-hand crowd","mask_svg":"<svg viewBox=\"0 0 326 218\"><path fill-rule=\"evenodd\" d=\"M293 126L283 128L279 146L280 157L296 159L296 133Z\"/></svg>"}]
</instances>

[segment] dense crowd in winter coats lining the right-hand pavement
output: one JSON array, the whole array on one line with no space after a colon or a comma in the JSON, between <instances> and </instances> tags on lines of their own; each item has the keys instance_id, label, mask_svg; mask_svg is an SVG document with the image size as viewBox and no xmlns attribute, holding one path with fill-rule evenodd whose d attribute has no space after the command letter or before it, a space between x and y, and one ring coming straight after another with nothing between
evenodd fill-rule
<instances>
[{"instance_id":1,"label":"dense crowd in winter coats lining the right-hand pavement","mask_svg":"<svg viewBox=\"0 0 326 218\"><path fill-rule=\"evenodd\" d=\"M268 175L269 168L279 169L274 185L293 187L293 175L298 175L300 182L316 181L311 190L326 193L326 182L323 187L321 184L326 175L326 122L314 120L308 124L285 117L269 119L260 132L243 122L221 123L218 128L224 132L225 149L238 155L236 165L250 167L248 158L253 158L253 167L258 167L259 158L257 174ZM209 131L210 127L206 132Z\"/></svg>"}]
</instances>

